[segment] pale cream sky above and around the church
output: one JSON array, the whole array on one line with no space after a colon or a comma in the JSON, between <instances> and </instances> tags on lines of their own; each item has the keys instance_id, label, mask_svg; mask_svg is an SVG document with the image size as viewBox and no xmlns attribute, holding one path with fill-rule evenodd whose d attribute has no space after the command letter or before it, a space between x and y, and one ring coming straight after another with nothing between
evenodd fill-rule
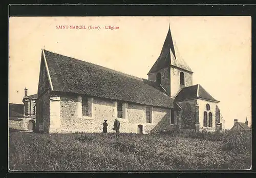
<instances>
[{"instance_id":1,"label":"pale cream sky above and around the church","mask_svg":"<svg viewBox=\"0 0 256 178\"><path fill-rule=\"evenodd\" d=\"M56 27L65 25L86 29ZM25 87L37 93L42 48L147 79L169 25L193 84L220 101L226 128L246 117L251 124L249 16L10 17L9 102L23 104Z\"/></svg>"}]
</instances>

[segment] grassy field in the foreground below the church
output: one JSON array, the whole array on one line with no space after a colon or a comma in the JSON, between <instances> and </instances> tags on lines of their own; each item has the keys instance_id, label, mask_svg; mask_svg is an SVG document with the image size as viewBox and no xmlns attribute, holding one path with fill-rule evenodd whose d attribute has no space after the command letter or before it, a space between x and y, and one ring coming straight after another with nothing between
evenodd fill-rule
<instances>
[{"instance_id":1,"label":"grassy field in the foreground below the church","mask_svg":"<svg viewBox=\"0 0 256 178\"><path fill-rule=\"evenodd\" d=\"M250 133L10 132L11 170L242 170Z\"/></svg>"}]
</instances>

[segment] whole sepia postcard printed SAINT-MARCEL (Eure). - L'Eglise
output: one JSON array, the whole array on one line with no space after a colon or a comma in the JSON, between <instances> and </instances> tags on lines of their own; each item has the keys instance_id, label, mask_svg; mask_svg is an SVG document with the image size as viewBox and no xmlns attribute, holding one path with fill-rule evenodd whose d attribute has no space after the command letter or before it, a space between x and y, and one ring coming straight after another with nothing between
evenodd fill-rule
<instances>
[{"instance_id":1,"label":"whole sepia postcard printed SAINT-MARCEL (Eure). - L'Eglise","mask_svg":"<svg viewBox=\"0 0 256 178\"><path fill-rule=\"evenodd\" d=\"M9 18L10 171L251 167L250 16Z\"/></svg>"}]
</instances>

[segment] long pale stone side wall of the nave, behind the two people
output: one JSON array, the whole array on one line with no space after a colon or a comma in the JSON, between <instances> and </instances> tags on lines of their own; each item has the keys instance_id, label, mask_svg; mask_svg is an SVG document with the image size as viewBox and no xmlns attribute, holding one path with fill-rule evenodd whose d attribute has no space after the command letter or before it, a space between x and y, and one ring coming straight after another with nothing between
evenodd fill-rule
<instances>
[{"instance_id":1,"label":"long pale stone side wall of the nave, behind the two people","mask_svg":"<svg viewBox=\"0 0 256 178\"><path fill-rule=\"evenodd\" d=\"M79 96L76 95L62 95L59 97L59 114L60 123L57 128L56 122L50 121L54 124L54 129L50 132L102 132L104 119L108 120L108 132L115 132L114 127L115 118L117 118L117 101L93 98L92 101L92 117L80 117ZM52 101L50 101L51 103ZM175 129L176 126L170 125L170 109L153 107L152 122L145 122L145 106L134 103L125 104L126 117L124 119L118 118L120 121L120 132L135 132L138 131L138 125L143 126L143 133L149 133L152 129L165 128ZM56 106L55 106L56 109ZM57 110L57 109L56 109ZM51 108L50 117L52 118L53 110ZM58 111L55 111L58 113ZM56 115L55 115L56 116ZM54 120L56 120L55 118ZM175 120L176 123L176 120ZM50 128L53 128L50 126Z\"/></svg>"}]
</instances>

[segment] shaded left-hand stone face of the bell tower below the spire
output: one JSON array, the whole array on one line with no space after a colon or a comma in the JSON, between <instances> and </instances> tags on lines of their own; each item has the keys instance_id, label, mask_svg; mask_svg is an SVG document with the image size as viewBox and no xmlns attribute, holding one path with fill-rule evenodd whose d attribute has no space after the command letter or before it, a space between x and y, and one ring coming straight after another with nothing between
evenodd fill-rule
<instances>
[{"instance_id":1,"label":"shaded left-hand stone face of the bell tower below the spire","mask_svg":"<svg viewBox=\"0 0 256 178\"><path fill-rule=\"evenodd\" d=\"M161 85L170 94L170 68L164 68L155 73L148 74L148 80L156 81L157 73L161 74Z\"/></svg>"}]
</instances>

